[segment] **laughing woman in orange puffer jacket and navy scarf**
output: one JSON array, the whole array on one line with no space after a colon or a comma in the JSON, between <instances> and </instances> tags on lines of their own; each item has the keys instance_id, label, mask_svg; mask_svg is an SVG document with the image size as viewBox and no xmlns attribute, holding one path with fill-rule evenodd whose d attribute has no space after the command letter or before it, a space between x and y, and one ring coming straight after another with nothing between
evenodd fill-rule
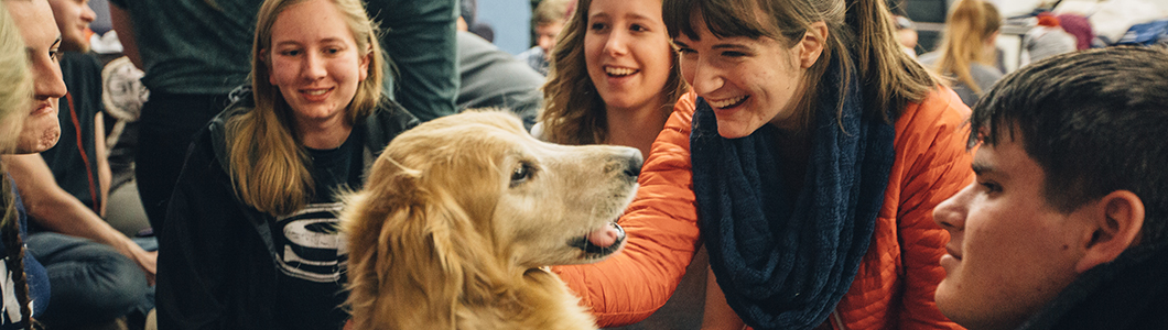
<instances>
[{"instance_id":1,"label":"laughing woman in orange puffer jacket and navy scarf","mask_svg":"<svg viewBox=\"0 0 1168 330\"><path fill-rule=\"evenodd\" d=\"M933 302L931 211L972 180L969 110L889 16L883 0L665 1L693 91L619 222L625 252L558 272L602 325L655 311L701 233L705 329L959 329Z\"/></svg>"}]
</instances>

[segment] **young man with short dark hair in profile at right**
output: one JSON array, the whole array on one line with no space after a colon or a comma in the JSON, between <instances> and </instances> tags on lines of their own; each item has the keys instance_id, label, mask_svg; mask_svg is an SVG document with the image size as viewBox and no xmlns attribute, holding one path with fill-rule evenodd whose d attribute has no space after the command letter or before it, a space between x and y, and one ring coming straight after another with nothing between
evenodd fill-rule
<instances>
[{"instance_id":1,"label":"young man with short dark hair in profile at right","mask_svg":"<svg viewBox=\"0 0 1168 330\"><path fill-rule=\"evenodd\" d=\"M976 181L933 211L937 288L969 329L1168 329L1168 52L1006 76L975 106Z\"/></svg>"}]
</instances>

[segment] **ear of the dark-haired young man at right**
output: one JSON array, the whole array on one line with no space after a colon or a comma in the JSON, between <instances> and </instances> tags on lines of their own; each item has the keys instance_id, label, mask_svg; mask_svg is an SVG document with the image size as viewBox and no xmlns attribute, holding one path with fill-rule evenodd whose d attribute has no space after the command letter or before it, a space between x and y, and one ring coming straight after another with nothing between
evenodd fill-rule
<instances>
[{"instance_id":1,"label":"ear of the dark-haired young man at right","mask_svg":"<svg viewBox=\"0 0 1168 330\"><path fill-rule=\"evenodd\" d=\"M1115 190L1098 203L1101 212L1089 215L1091 231L1083 238L1086 243L1084 254L1075 265L1079 273L1115 260L1138 241L1143 229L1143 201L1134 192Z\"/></svg>"}]
</instances>

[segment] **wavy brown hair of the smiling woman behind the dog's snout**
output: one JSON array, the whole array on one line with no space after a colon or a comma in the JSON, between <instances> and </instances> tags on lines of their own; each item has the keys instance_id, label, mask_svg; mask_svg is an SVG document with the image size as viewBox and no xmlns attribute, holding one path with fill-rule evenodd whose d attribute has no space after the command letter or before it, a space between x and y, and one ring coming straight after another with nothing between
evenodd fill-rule
<instances>
[{"instance_id":1,"label":"wavy brown hair of the smiling woman behind the dog's snout","mask_svg":"<svg viewBox=\"0 0 1168 330\"><path fill-rule=\"evenodd\" d=\"M588 10L592 0L580 0L576 10L559 31L556 48L551 50L551 72L543 85L544 108L540 114L543 139L563 145L603 143L607 139L609 122L604 99L596 91L588 75L584 59L584 35L588 34ZM674 103L686 92L677 57L674 52L669 78L661 93L666 96L661 115L669 117Z\"/></svg>"}]
</instances>

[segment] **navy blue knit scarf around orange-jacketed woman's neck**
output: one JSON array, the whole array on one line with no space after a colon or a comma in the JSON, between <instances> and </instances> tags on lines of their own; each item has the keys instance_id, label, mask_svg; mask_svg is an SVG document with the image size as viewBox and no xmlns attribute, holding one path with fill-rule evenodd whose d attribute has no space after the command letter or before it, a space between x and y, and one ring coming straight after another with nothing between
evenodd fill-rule
<instances>
[{"instance_id":1,"label":"navy blue knit scarf around orange-jacketed woman's neck","mask_svg":"<svg viewBox=\"0 0 1168 330\"><path fill-rule=\"evenodd\" d=\"M690 149L700 225L726 302L752 328L822 324L868 251L896 129L864 115L856 77L841 118L840 77L836 63L823 75L801 191L783 183L790 160L777 153L785 147L776 146L778 128L722 138L714 111L697 99Z\"/></svg>"}]
</instances>

